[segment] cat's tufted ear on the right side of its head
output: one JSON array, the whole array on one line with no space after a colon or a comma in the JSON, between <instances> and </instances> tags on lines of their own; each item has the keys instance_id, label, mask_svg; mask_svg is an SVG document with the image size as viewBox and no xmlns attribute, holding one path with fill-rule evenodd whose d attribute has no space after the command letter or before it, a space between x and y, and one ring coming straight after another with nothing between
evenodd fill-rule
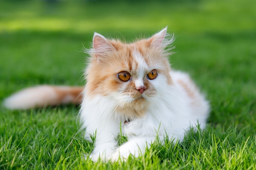
<instances>
[{"instance_id":1,"label":"cat's tufted ear on the right side of its head","mask_svg":"<svg viewBox=\"0 0 256 170\"><path fill-rule=\"evenodd\" d=\"M151 38L149 38L150 46L154 48L165 49L174 41L174 36L169 36L167 32L167 26L162 29L159 33L156 33Z\"/></svg>"}]
</instances>

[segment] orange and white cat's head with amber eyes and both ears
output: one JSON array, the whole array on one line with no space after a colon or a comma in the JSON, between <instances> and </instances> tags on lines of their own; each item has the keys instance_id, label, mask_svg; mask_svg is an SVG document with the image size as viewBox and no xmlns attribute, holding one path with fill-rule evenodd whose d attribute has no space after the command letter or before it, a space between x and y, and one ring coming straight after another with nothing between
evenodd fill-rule
<instances>
[{"instance_id":1,"label":"orange and white cat's head with amber eyes and both ears","mask_svg":"<svg viewBox=\"0 0 256 170\"><path fill-rule=\"evenodd\" d=\"M93 48L87 51L86 93L110 97L120 112L143 114L149 101L172 83L168 47L174 38L166 30L131 44L94 33Z\"/></svg>"}]
</instances>

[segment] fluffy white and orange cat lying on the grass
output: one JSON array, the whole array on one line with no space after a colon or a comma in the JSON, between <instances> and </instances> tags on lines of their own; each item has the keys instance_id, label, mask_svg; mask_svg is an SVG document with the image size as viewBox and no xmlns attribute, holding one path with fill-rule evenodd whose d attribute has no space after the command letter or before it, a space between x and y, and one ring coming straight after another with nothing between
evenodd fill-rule
<instances>
[{"instance_id":1,"label":"fluffy white and orange cat lying on the grass","mask_svg":"<svg viewBox=\"0 0 256 170\"><path fill-rule=\"evenodd\" d=\"M168 57L174 38L167 28L131 44L94 33L81 87L38 86L4 102L12 109L80 103L85 138L96 135L93 161L138 157L156 139L181 141L186 130L206 126L209 104L189 75L171 69ZM80 96L80 93L82 95ZM117 146L120 132L128 141Z\"/></svg>"}]
</instances>

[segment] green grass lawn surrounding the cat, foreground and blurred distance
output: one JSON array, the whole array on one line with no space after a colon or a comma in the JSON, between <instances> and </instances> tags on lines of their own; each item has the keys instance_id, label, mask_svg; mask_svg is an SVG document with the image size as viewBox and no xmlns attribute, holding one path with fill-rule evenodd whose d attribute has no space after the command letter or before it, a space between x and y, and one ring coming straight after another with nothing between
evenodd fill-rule
<instances>
[{"instance_id":1,"label":"green grass lawn surrounding the cat, foreground and blurred distance","mask_svg":"<svg viewBox=\"0 0 256 170\"><path fill-rule=\"evenodd\" d=\"M168 25L173 68L189 72L211 102L207 128L153 144L126 163L82 159L93 144L79 108L0 106L0 169L256 169L256 2L0 2L0 102L36 84L83 85L94 31L128 41ZM120 139L122 141L122 139Z\"/></svg>"}]
</instances>

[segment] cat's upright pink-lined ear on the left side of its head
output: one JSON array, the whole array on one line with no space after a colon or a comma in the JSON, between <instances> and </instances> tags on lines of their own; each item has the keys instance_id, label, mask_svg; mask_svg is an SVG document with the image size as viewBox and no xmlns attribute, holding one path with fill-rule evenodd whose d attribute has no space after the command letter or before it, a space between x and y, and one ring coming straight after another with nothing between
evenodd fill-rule
<instances>
[{"instance_id":1,"label":"cat's upright pink-lined ear on the left side of its head","mask_svg":"<svg viewBox=\"0 0 256 170\"><path fill-rule=\"evenodd\" d=\"M93 36L93 51L95 57L101 57L102 55L115 50L114 46L99 33L94 33Z\"/></svg>"}]
</instances>

